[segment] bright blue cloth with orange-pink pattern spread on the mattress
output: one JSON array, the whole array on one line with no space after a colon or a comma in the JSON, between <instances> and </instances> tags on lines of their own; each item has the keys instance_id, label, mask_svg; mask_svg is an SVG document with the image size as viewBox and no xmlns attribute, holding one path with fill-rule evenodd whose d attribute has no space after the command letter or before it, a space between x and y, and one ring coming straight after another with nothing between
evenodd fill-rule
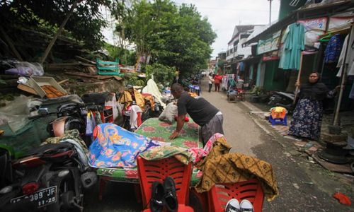
<instances>
[{"instance_id":1,"label":"bright blue cloth with orange-pink pattern spread on the mattress","mask_svg":"<svg viewBox=\"0 0 354 212\"><path fill-rule=\"evenodd\" d=\"M96 138L89 148L91 167L136 167L139 153L147 150L151 140L115 124L99 124Z\"/></svg>"}]
</instances>

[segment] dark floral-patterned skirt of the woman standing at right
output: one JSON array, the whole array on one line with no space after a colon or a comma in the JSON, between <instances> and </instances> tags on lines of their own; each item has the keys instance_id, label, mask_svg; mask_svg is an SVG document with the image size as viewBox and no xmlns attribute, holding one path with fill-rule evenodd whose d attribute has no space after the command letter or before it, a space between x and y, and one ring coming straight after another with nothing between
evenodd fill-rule
<instances>
[{"instance_id":1,"label":"dark floral-patterned skirt of the woman standing at right","mask_svg":"<svg viewBox=\"0 0 354 212\"><path fill-rule=\"evenodd\" d=\"M301 99L297 102L289 135L319 140L323 106L318 100Z\"/></svg>"}]
</instances>

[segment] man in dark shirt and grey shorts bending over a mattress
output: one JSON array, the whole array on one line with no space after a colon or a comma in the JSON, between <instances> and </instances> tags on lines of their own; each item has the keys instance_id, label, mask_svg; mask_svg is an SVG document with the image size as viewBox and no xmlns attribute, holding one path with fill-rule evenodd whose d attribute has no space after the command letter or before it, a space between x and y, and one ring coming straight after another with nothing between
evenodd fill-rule
<instances>
[{"instance_id":1,"label":"man in dark shirt and grey shorts bending over a mattress","mask_svg":"<svg viewBox=\"0 0 354 212\"><path fill-rule=\"evenodd\" d=\"M215 133L224 134L222 129L222 112L217 110L210 102L204 98L192 98L183 87L174 83L171 86L171 93L178 99L178 117L176 130L173 131L169 139L175 139L183 128L185 114L189 114L195 123L202 127L202 142L205 144Z\"/></svg>"}]
</instances>

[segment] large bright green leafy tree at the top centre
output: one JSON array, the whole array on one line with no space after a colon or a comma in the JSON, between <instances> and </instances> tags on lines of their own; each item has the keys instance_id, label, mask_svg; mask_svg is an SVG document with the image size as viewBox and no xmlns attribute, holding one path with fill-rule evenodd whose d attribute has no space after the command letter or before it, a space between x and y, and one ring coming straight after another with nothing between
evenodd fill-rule
<instances>
[{"instance_id":1,"label":"large bright green leafy tree at the top centre","mask_svg":"<svg viewBox=\"0 0 354 212\"><path fill-rule=\"evenodd\" d=\"M122 33L124 29L125 38L136 45L138 55L151 55L152 63L174 66L182 75L207 67L216 34L195 6L143 0L125 6L125 11L127 16L117 30Z\"/></svg>"}]
</instances>

